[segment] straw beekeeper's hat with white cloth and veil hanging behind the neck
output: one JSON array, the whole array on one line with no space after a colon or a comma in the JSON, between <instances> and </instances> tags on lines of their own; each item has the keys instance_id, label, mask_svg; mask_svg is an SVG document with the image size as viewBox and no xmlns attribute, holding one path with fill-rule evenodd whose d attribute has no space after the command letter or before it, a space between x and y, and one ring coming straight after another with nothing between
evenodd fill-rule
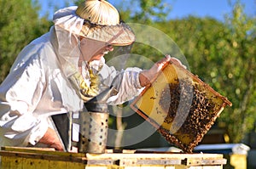
<instances>
[{"instance_id":1,"label":"straw beekeeper's hat with white cloth and veil hanging behind the neck","mask_svg":"<svg viewBox=\"0 0 256 169\"><path fill-rule=\"evenodd\" d=\"M57 53L67 76L79 69L81 37L114 46L126 46L135 41L130 27L120 21L117 9L104 0L87 0L79 7L62 8L55 13L53 21Z\"/></svg>"}]
</instances>

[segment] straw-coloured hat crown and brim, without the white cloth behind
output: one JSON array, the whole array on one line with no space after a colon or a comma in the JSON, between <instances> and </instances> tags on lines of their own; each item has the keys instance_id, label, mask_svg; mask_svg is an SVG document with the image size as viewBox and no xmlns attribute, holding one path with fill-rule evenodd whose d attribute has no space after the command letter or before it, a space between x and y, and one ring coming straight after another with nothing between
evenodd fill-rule
<instances>
[{"instance_id":1,"label":"straw-coloured hat crown and brim, without the white cloth behind","mask_svg":"<svg viewBox=\"0 0 256 169\"><path fill-rule=\"evenodd\" d=\"M131 28L120 22L119 12L105 0L85 0L76 10L84 19L80 36L107 42L115 46L130 45L135 41Z\"/></svg>"}]
</instances>

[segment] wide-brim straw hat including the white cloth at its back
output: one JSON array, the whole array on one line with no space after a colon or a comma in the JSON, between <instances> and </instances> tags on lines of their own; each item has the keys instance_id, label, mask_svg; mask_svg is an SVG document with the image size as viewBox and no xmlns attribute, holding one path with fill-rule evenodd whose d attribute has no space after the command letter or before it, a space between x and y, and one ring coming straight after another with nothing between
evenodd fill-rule
<instances>
[{"instance_id":1,"label":"wide-brim straw hat including the white cloth at its back","mask_svg":"<svg viewBox=\"0 0 256 169\"><path fill-rule=\"evenodd\" d=\"M75 8L64 8L54 15L55 26L61 26L80 37L126 46L135 42L131 28L119 19L119 12L105 0L85 0Z\"/></svg>"}]
</instances>

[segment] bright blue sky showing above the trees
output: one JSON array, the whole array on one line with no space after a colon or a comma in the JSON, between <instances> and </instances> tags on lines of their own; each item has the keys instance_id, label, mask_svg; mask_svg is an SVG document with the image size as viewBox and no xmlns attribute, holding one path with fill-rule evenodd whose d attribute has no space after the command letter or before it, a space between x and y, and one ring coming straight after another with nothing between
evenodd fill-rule
<instances>
[{"instance_id":1,"label":"bright blue sky showing above the trees","mask_svg":"<svg viewBox=\"0 0 256 169\"><path fill-rule=\"evenodd\" d=\"M115 5L117 2L131 2L131 0L109 0L110 3ZM169 13L169 19L183 18L188 15L194 15L198 17L210 16L217 20L224 20L224 14L230 14L230 3L234 3L235 0L164 0L167 4L172 6L172 10ZM73 3L64 3L68 1L61 0L39 0L39 3L43 7L40 15L49 13L53 14L54 8L49 8L49 4L57 8L64 8ZM71 2L71 1L70 1ZM248 15L256 14L256 0L240 0L245 5L245 11ZM52 17L49 16L49 19Z\"/></svg>"}]
</instances>

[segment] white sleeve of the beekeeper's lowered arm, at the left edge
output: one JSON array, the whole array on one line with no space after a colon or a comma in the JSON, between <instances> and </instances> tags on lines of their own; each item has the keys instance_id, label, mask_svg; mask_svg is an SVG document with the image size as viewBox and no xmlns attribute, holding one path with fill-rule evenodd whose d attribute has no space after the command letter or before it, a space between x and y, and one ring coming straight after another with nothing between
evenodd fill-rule
<instances>
[{"instance_id":1,"label":"white sleeve of the beekeeper's lowered arm, at the left edge","mask_svg":"<svg viewBox=\"0 0 256 169\"><path fill-rule=\"evenodd\" d=\"M0 134L2 144L36 144L48 126L33 114L44 91L44 70L38 59L14 69L0 87Z\"/></svg>"}]
</instances>

